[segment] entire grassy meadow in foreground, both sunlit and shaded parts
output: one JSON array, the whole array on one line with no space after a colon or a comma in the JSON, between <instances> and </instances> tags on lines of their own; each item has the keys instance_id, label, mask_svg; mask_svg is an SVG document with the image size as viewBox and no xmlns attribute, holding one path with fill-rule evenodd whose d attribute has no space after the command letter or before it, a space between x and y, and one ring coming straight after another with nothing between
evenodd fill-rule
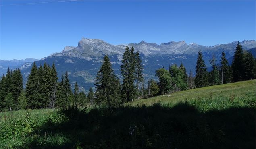
<instances>
[{"instance_id":1,"label":"entire grassy meadow in foreground, both sunlit and shaded parts","mask_svg":"<svg viewBox=\"0 0 256 149\"><path fill-rule=\"evenodd\" d=\"M0 114L0 148L255 148L255 80L118 108Z\"/></svg>"}]
</instances>

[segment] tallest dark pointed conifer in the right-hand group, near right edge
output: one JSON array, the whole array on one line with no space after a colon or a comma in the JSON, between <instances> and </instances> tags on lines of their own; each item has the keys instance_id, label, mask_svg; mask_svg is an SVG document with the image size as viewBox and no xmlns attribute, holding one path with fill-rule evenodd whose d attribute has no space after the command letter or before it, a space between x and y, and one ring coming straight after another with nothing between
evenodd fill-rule
<instances>
[{"instance_id":1,"label":"tallest dark pointed conifer in the right-hand group, near right edge","mask_svg":"<svg viewBox=\"0 0 256 149\"><path fill-rule=\"evenodd\" d=\"M244 68L243 68L243 49L241 44L238 42L237 46L235 48L235 54L232 61L232 72L233 72L233 81L243 81L243 74L244 74Z\"/></svg>"}]
</instances>

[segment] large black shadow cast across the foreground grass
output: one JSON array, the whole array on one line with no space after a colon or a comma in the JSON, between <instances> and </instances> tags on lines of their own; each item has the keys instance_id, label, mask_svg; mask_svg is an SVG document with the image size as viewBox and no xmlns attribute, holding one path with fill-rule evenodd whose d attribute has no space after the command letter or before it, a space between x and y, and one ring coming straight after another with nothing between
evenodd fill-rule
<instances>
[{"instance_id":1,"label":"large black shadow cast across the foreground grass","mask_svg":"<svg viewBox=\"0 0 256 149\"><path fill-rule=\"evenodd\" d=\"M28 148L255 148L255 108L198 112L180 103L58 112L27 139ZM40 131L38 131L40 130Z\"/></svg>"}]
</instances>

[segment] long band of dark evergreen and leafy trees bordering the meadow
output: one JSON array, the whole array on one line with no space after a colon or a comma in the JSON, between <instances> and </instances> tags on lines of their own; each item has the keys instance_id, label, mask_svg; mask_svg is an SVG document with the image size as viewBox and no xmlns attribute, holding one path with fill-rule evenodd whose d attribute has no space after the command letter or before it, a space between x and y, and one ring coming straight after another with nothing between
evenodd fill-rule
<instances>
[{"instance_id":1,"label":"long band of dark evergreen and leafy trees bordering the meadow","mask_svg":"<svg viewBox=\"0 0 256 149\"><path fill-rule=\"evenodd\" d=\"M210 60L212 70L206 71L201 50L198 52L196 75L181 63L169 66L168 70L156 70L154 79L144 80L143 65L139 52L126 46L120 68L123 81L119 80L112 69L110 59L104 56L102 66L97 73L95 91L91 88L86 95L79 91L78 83L72 91L69 73L62 74L58 82L54 64L44 64L37 68L35 62L31 68L25 89L19 69L7 70L0 81L0 110L12 111L19 109L83 108L87 105L106 105L116 107L123 103L140 98L173 93L176 91L219 85L237 81L255 79L255 58L250 52L243 51L238 42L231 66L225 53L222 52L220 64L217 65L214 55ZM145 82L148 82L147 84Z\"/></svg>"}]
</instances>

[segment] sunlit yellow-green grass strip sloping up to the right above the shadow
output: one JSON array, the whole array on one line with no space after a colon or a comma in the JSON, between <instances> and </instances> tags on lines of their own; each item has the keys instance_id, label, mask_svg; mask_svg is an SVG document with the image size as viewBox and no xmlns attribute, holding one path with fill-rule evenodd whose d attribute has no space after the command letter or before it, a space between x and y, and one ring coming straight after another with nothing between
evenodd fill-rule
<instances>
[{"instance_id":1,"label":"sunlit yellow-green grass strip sloping up to the right above the shadow","mask_svg":"<svg viewBox=\"0 0 256 149\"><path fill-rule=\"evenodd\" d=\"M255 89L256 89L256 80L249 81L241 81L236 83L229 83L223 85L215 85L209 87L202 87L198 89L189 89L186 91L179 91L172 94L161 95L157 97L152 97L148 99L139 99L128 105L137 106L145 104L152 105L152 103L160 103L164 104L177 104L181 101L189 100L189 99L198 99L198 98L214 98L214 97L246 97L246 96L254 96L255 97Z\"/></svg>"}]
</instances>

